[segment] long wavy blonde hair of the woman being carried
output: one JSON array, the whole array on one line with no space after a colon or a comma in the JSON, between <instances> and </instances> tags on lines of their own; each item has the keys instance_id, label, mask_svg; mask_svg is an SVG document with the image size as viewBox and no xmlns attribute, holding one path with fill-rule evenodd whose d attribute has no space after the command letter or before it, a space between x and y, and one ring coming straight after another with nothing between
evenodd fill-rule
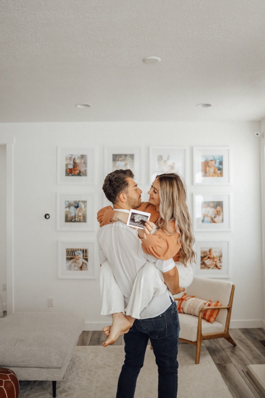
<instances>
[{"instance_id":1,"label":"long wavy blonde hair of the woman being carried","mask_svg":"<svg viewBox=\"0 0 265 398\"><path fill-rule=\"evenodd\" d=\"M159 212L158 228L166 233L170 231L170 220L175 220L175 229L179 232L181 249L179 261L187 266L196 261L196 253L193 250L195 238L191 228L191 216L187 207L187 192L184 181L176 173L160 174L156 176L159 187Z\"/></svg>"}]
</instances>

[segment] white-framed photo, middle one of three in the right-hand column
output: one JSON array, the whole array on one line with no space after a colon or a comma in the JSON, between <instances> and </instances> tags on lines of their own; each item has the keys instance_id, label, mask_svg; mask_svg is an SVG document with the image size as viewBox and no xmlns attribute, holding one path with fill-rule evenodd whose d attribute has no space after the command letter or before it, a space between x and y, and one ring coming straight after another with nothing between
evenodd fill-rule
<instances>
[{"instance_id":1,"label":"white-framed photo, middle one of three in the right-hand column","mask_svg":"<svg viewBox=\"0 0 265 398\"><path fill-rule=\"evenodd\" d=\"M195 231L230 231L230 195L193 196Z\"/></svg>"}]
</instances>

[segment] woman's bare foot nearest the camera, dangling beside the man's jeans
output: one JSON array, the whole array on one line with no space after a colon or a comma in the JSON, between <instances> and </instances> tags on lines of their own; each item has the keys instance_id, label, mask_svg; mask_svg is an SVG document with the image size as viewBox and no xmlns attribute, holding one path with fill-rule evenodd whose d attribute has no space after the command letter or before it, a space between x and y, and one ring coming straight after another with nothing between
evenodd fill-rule
<instances>
[{"instance_id":1,"label":"woman's bare foot nearest the camera, dangling beside the man's jeans","mask_svg":"<svg viewBox=\"0 0 265 398\"><path fill-rule=\"evenodd\" d=\"M107 336L106 341L103 341L102 343L103 347L107 347L108 345L115 343L115 341L119 336L121 336L121 334L128 332L131 328L131 323L125 317L123 312L117 312L115 314L112 314L112 318L112 325L105 326L105 328L103 328L103 332Z\"/></svg>"}]
</instances>

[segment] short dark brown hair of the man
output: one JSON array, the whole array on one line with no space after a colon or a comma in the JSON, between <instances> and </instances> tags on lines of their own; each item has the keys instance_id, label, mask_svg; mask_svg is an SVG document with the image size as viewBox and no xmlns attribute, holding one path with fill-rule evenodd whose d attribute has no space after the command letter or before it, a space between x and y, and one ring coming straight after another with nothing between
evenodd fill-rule
<instances>
[{"instance_id":1,"label":"short dark brown hair of the man","mask_svg":"<svg viewBox=\"0 0 265 398\"><path fill-rule=\"evenodd\" d=\"M109 173L104 180L102 189L105 193L106 198L115 203L117 196L121 193L127 193L129 183L127 178L134 178L132 170L115 170Z\"/></svg>"}]
</instances>

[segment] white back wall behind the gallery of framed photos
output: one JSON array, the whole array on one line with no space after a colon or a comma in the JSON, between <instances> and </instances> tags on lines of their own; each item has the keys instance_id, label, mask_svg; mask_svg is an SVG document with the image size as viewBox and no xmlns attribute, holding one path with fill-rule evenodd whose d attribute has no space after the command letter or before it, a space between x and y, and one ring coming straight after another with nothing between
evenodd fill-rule
<instances>
[{"instance_id":1,"label":"white back wall behind the gallery of framed photos","mask_svg":"<svg viewBox=\"0 0 265 398\"><path fill-rule=\"evenodd\" d=\"M57 279L57 240L95 238L95 232L56 231L56 192L93 191L103 203L104 146L140 146L144 192L148 185L149 146L187 148L187 188L193 192L232 194L230 280L236 285L231 326L260 327L262 308L262 237L259 123L16 123L1 124L0 134L14 135L14 308L15 311L72 311L84 316L87 330L106 324L100 316L99 280ZM95 148L96 185L57 185L57 146ZM229 146L232 186L192 185L192 147ZM143 197L146 199L147 195ZM51 218L46 220L45 213ZM95 212L96 217L96 212ZM197 239L211 239L200 232ZM96 267L99 268L96 257ZM55 307L47 307L47 297ZM255 297L255 305L253 305ZM251 299L250 299L251 298ZM263 317L264 318L264 317Z\"/></svg>"}]
</instances>

